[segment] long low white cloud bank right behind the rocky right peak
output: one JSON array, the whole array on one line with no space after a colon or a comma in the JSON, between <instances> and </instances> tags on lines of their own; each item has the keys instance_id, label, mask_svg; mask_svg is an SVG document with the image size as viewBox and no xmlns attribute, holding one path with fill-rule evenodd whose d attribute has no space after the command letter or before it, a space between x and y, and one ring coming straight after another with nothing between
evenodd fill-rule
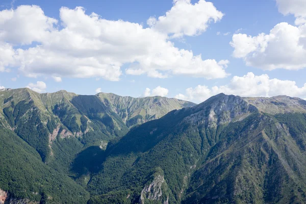
<instances>
[{"instance_id":1,"label":"long low white cloud bank right behind the rocky right peak","mask_svg":"<svg viewBox=\"0 0 306 204\"><path fill-rule=\"evenodd\" d=\"M185 94L177 94L175 98L201 102L219 93L263 97L289 95L305 98L306 84L303 87L298 87L294 81L270 79L267 74L254 75L249 72L243 77L233 77L230 83L223 86L209 88L198 85L194 88L188 88Z\"/></svg>"}]
</instances>

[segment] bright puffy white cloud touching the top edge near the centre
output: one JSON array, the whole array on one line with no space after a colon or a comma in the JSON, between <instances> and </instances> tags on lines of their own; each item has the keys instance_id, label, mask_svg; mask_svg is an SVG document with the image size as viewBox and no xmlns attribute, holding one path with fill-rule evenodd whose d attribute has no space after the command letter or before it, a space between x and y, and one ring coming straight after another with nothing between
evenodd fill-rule
<instances>
[{"instance_id":1,"label":"bright puffy white cloud touching the top edge near the centre","mask_svg":"<svg viewBox=\"0 0 306 204\"><path fill-rule=\"evenodd\" d=\"M191 0L173 0L173 7L158 19L150 17L147 24L163 33L173 34L171 37L200 35L205 32L210 22L217 22L223 13L213 3L199 0L191 4Z\"/></svg>"}]
</instances>

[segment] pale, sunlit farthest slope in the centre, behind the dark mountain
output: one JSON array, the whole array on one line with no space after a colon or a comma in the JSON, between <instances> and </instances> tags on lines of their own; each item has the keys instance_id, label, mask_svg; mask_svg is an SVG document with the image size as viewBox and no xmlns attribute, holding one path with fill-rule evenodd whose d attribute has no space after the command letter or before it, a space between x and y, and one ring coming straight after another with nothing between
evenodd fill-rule
<instances>
[{"instance_id":1,"label":"pale, sunlit farthest slope in the centre, behind the dark mountain","mask_svg":"<svg viewBox=\"0 0 306 204\"><path fill-rule=\"evenodd\" d=\"M189 101L161 96L133 98L112 93L98 93L96 96L120 115L128 127L161 118L172 110L195 105Z\"/></svg>"}]
</instances>

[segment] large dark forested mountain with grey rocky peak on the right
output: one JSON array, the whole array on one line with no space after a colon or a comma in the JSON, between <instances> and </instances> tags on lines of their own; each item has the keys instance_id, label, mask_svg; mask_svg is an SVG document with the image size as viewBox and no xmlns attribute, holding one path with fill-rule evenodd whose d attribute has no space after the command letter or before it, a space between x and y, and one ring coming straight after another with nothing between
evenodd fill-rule
<instances>
[{"instance_id":1,"label":"large dark forested mountain with grey rocky peak on the right","mask_svg":"<svg viewBox=\"0 0 306 204\"><path fill-rule=\"evenodd\" d=\"M109 143L89 203L306 202L304 101L249 100L219 94Z\"/></svg>"}]
</instances>

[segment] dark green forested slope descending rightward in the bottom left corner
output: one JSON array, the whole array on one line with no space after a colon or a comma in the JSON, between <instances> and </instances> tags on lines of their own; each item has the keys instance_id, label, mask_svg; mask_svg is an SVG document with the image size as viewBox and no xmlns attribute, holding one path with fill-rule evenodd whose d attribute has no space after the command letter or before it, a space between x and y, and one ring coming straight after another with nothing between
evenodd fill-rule
<instances>
[{"instance_id":1,"label":"dark green forested slope descending rightward in the bottom left corner","mask_svg":"<svg viewBox=\"0 0 306 204\"><path fill-rule=\"evenodd\" d=\"M33 147L1 125L0 152L0 193L5 203L86 203L89 199L83 187L42 163Z\"/></svg>"}]
</instances>

